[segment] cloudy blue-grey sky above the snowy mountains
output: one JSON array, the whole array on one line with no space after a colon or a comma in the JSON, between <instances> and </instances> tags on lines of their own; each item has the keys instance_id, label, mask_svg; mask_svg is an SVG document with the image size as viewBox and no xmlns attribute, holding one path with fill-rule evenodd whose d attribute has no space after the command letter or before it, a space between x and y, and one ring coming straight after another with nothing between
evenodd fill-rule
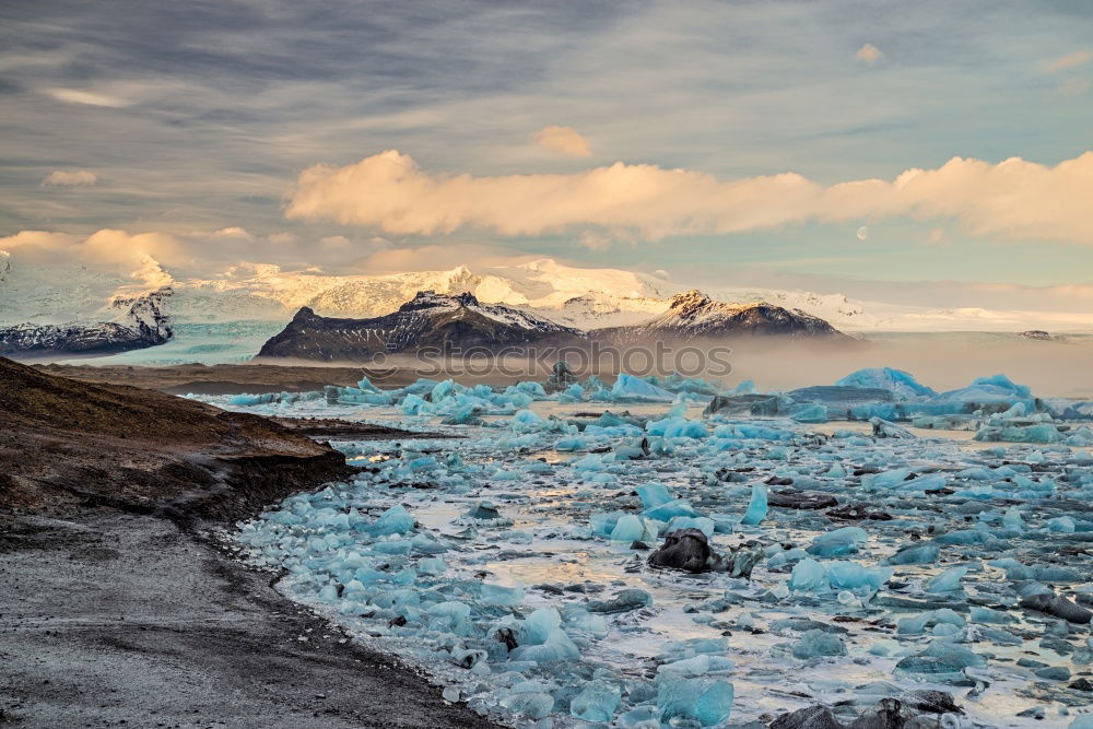
<instances>
[{"instance_id":1,"label":"cloudy blue-grey sky above the snowy mountains","mask_svg":"<svg viewBox=\"0 0 1093 729\"><path fill-rule=\"evenodd\" d=\"M0 7L0 249L1093 311L1093 0Z\"/></svg>"}]
</instances>

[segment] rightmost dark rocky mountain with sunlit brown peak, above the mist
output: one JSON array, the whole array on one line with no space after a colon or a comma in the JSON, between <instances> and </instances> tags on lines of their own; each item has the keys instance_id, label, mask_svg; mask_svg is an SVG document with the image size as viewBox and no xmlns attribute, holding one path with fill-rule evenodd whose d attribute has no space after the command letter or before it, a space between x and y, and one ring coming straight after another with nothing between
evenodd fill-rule
<instances>
[{"instance_id":1,"label":"rightmost dark rocky mountain with sunlit brown peak, above the mist","mask_svg":"<svg viewBox=\"0 0 1093 729\"><path fill-rule=\"evenodd\" d=\"M787 309L766 302L726 304L695 290L673 296L668 310L660 316L631 327L598 329L592 337L619 341L738 337L855 341L801 309Z\"/></svg>"}]
</instances>

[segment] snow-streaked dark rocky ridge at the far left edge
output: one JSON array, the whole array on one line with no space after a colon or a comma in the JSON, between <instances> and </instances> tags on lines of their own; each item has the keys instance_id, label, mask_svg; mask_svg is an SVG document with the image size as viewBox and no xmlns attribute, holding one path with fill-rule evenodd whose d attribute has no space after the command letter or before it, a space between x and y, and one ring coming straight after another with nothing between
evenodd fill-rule
<instances>
[{"instance_id":1,"label":"snow-streaked dark rocky ridge at the far left edge","mask_svg":"<svg viewBox=\"0 0 1093 729\"><path fill-rule=\"evenodd\" d=\"M116 320L92 324L36 325L0 327L0 354L9 356L47 356L51 354L110 354L163 344L173 336L163 311L169 289L117 297L110 307Z\"/></svg>"}]
</instances>

